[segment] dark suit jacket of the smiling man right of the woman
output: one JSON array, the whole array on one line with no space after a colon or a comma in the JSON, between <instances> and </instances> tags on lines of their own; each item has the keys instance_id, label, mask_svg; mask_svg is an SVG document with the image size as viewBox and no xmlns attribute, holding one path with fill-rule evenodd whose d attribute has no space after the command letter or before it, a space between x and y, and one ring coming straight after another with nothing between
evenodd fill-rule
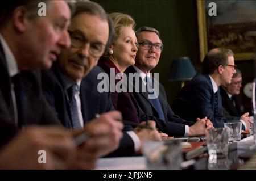
<instances>
[{"instance_id":1,"label":"dark suit jacket of the smiling man right of the woman","mask_svg":"<svg viewBox=\"0 0 256 181\"><path fill-rule=\"evenodd\" d=\"M129 73L137 73L133 66L127 68L125 72L128 75L128 77ZM129 83L131 83L134 86L136 83L135 79L133 80L133 82ZM141 77L139 77L139 85L144 86ZM143 119L145 115L152 117L152 119L156 121L156 127L158 127L160 131L167 133L170 136L184 136L185 124L193 125L194 123L192 121L185 121L184 119L181 119L179 116L175 115L174 112L172 112L172 109L167 102L164 87L159 82L158 85L158 98L164 113L165 120L161 120L159 118L158 112L156 111L154 105L152 104L151 99L148 99L148 92L143 92L141 89L139 91L133 91L134 98L136 99L138 106L140 107L140 111L138 111L139 117L141 117L141 119Z\"/></svg>"}]
</instances>

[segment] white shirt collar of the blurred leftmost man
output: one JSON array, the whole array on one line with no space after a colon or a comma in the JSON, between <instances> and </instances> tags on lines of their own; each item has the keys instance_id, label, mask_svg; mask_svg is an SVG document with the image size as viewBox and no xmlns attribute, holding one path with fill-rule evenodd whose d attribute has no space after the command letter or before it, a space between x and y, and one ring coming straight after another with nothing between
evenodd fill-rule
<instances>
[{"instance_id":1,"label":"white shirt collar of the blurred leftmost man","mask_svg":"<svg viewBox=\"0 0 256 181\"><path fill-rule=\"evenodd\" d=\"M0 43L2 44L3 52L5 53L9 76L13 77L14 75L19 73L18 64L16 62L13 52L11 52L10 47L7 45L1 33L0 33Z\"/></svg>"}]
</instances>

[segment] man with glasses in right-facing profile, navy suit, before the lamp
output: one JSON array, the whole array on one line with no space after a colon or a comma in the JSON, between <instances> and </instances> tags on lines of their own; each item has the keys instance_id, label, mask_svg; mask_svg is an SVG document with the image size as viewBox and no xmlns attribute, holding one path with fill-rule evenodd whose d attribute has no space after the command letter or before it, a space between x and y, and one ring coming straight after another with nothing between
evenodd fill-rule
<instances>
[{"instance_id":1,"label":"man with glasses in right-facing profile, navy suit, before the lamp","mask_svg":"<svg viewBox=\"0 0 256 181\"><path fill-rule=\"evenodd\" d=\"M231 82L236 73L232 50L214 48L203 61L203 73L197 73L176 96L172 108L183 119L207 116L214 127L224 127L222 118L221 85ZM246 120L250 119L246 117ZM246 125L246 123L245 123Z\"/></svg>"}]
</instances>

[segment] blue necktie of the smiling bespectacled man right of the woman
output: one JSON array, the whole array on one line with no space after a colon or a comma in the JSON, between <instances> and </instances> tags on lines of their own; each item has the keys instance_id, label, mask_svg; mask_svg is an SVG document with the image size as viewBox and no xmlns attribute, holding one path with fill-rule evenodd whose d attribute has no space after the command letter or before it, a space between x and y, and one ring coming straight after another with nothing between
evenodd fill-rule
<instances>
[{"instance_id":1,"label":"blue necktie of the smiling bespectacled man right of the woman","mask_svg":"<svg viewBox=\"0 0 256 181\"><path fill-rule=\"evenodd\" d=\"M150 79L150 77L146 76L145 77L146 83L147 83L147 92L148 94L154 94L155 90L154 87L152 87L152 80ZM150 90L148 90L148 88L150 88ZM162 120L166 120L164 118L164 113L160 104L160 101L158 98L155 99L150 99L153 106L155 107L156 111L158 112L159 118Z\"/></svg>"}]
</instances>

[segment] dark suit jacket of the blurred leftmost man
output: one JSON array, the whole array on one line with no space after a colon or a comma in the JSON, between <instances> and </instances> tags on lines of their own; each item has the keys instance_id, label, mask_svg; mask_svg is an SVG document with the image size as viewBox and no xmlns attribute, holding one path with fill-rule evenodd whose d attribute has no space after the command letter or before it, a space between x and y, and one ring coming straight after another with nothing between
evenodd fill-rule
<instances>
[{"instance_id":1,"label":"dark suit jacket of the blurred leftmost man","mask_svg":"<svg viewBox=\"0 0 256 181\"><path fill-rule=\"evenodd\" d=\"M0 45L0 120L14 123L14 108L11 98L11 79L7 61ZM18 106L20 127L30 124L61 125L52 108L42 94L39 71L21 71L20 84L23 87L22 102ZM5 139L0 132L0 140ZM1 142L1 141L0 141Z\"/></svg>"}]
</instances>

